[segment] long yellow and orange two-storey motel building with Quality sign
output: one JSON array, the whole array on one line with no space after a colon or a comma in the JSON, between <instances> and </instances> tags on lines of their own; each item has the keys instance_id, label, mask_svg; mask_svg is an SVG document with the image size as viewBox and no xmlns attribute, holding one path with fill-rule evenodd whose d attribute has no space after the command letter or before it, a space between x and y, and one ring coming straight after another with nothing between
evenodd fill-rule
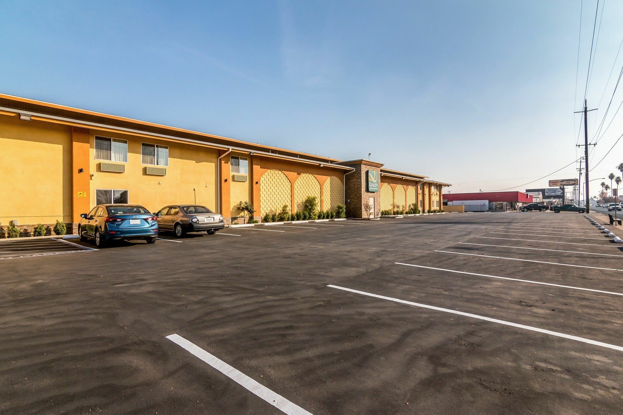
<instances>
[{"instance_id":1,"label":"long yellow and orange two-storey motel building with Quality sign","mask_svg":"<svg viewBox=\"0 0 623 415\"><path fill-rule=\"evenodd\" d=\"M321 151L319 151L321 152ZM373 183L376 180L378 183ZM254 204L255 219L319 208L346 216L442 207L447 183L386 169L217 135L0 94L0 237L16 224L31 231L58 221L77 232L80 214L97 204L202 204L226 223L242 222L235 206ZM369 207L369 211L368 211ZM240 216L240 217L239 217Z\"/></svg>"}]
</instances>

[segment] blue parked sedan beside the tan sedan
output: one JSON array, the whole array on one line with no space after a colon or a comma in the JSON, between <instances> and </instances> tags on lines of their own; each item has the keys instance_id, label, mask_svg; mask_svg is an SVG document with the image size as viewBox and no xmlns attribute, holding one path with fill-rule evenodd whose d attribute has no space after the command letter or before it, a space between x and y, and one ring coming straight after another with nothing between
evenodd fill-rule
<instances>
[{"instance_id":1,"label":"blue parked sedan beside the tan sedan","mask_svg":"<svg viewBox=\"0 0 623 415\"><path fill-rule=\"evenodd\" d=\"M97 247L120 239L145 239L153 244L158 237L156 216L138 204L98 204L80 217L80 241L93 239Z\"/></svg>"}]
</instances>

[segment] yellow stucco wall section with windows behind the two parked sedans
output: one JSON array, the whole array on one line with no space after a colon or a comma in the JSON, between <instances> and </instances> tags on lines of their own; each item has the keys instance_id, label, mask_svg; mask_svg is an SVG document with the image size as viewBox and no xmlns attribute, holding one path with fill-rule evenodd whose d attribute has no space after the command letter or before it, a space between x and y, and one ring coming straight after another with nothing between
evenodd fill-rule
<instances>
[{"instance_id":1,"label":"yellow stucco wall section with windows behind the two parked sedans","mask_svg":"<svg viewBox=\"0 0 623 415\"><path fill-rule=\"evenodd\" d=\"M95 160L95 135L128 140L128 163L120 163L125 165L125 173L100 171L98 165L102 160ZM169 146L166 176L145 174L148 165L141 164L141 142ZM193 189L196 189L196 203L216 211L218 153L214 149L92 130L90 158L91 173L95 174L89 195L92 207L95 206L96 189L126 189L129 203L141 204L150 212L167 204L195 203Z\"/></svg>"}]
</instances>

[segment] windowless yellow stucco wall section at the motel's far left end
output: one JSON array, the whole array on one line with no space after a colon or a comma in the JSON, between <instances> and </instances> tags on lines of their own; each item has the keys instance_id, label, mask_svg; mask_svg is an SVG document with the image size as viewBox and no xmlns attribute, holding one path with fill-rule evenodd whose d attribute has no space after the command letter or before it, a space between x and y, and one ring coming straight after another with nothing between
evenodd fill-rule
<instances>
[{"instance_id":1,"label":"windowless yellow stucco wall section at the motel's far left end","mask_svg":"<svg viewBox=\"0 0 623 415\"><path fill-rule=\"evenodd\" d=\"M68 126L0 115L0 222L71 222Z\"/></svg>"}]
</instances>

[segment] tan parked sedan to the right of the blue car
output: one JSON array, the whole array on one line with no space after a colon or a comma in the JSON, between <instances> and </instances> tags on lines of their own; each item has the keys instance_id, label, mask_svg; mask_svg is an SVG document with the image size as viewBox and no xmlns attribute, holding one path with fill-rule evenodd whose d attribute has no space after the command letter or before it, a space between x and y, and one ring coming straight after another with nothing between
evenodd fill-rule
<instances>
[{"instance_id":1,"label":"tan parked sedan to the right of the blue car","mask_svg":"<svg viewBox=\"0 0 623 415\"><path fill-rule=\"evenodd\" d=\"M181 237L186 232L205 231L213 235L225 227L223 217L200 204L170 204L154 213L161 231L170 231Z\"/></svg>"}]
</instances>

